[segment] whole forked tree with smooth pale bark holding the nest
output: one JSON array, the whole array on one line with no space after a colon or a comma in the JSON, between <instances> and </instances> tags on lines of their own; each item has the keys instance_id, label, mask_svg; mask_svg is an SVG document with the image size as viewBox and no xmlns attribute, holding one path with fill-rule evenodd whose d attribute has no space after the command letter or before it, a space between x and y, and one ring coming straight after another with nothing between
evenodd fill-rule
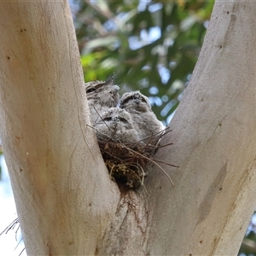
<instances>
[{"instance_id":1,"label":"whole forked tree with smooth pale bark holding the nest","mask_svg":"<svg viewBox=\"0 0 256 256\"><path fill-rule=\"evenodd\" d=\"M1 137L28 254L238 252L255 205L255 7L215 3L157 154L180 166L165 166L174 187L153 167L147 192L124 194L87 126L67 2L1 4Z\"/></svg>"}]
</instances>

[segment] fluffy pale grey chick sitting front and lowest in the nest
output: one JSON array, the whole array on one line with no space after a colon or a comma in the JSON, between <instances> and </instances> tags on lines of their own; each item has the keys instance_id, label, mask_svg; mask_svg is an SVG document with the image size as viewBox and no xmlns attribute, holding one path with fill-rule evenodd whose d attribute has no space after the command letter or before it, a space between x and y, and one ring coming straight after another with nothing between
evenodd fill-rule
<instances>
[{"instance_id":1,"label":"fluffy pale grey chick sitting front and lowest in the nest","mask_svg":"<svg viewBox=\"0 0 256 256\"><path fill-rule=\"evenodd\" d=\"M99 142L137 143L139 135L136 131L131 114L122 108L109 108L101 114L94 125Z\"/></svg>"}]
</instances>

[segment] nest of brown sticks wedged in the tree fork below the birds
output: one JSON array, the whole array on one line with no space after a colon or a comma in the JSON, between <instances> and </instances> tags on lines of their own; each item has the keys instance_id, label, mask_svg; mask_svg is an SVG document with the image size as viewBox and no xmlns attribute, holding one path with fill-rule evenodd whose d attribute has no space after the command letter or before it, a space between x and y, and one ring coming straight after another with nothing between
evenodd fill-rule
<instances>
[{"instance_id":1,"label":"nest of brown sticks wedged in the tree fork below the birds","mask_svg":"<svg viewBox=\"0 0 256 256\"><path fill-rule=\"evenodd\" d=\"M145 171L146 167L154 164L159 167L161 172L166 174L166 177L172 183L172 179L158 164L164 162L154 160L154 154L159 148L172 145L172 143L160 144L161 138L168 132L166 130L153 134L147 144L143 143L143 141L125 144L110 137L106 138L106 140L98 140L102 157L110 176L125 188L137 189L140 185L143 185L144 178L148 175ZM173 166L167 163L164 164Z\"/></svg>"}]
</instances>

